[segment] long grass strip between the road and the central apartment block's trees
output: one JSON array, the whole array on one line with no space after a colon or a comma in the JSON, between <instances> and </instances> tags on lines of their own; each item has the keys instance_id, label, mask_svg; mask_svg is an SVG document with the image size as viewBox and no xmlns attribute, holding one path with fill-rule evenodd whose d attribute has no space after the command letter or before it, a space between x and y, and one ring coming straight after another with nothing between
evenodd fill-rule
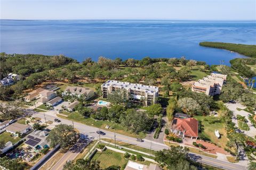
<instances>
[{"instance_id":1,"label":"long grass strip between the road and the central apartment block's trees","mask_svg":"<svg viewBox=\"0 0 256 170\"><path fill-rule=\"evenodd\" d=\"M63 119L73 120L75 122L79 122L79 123L82 123L85 125L102 128L107 131L111 131L111 132L115 131L116 133L120 133L120 134L131 136L131 137L144 138L146 136L145 133L139 133L139 134L131 133L131 132L127 131L126 128L122 127L119 124L115 124L113 122L108 122L105 120L94 120L92 118L84 118L82 115L78 114L77 112L72 112L72 114L70 114L68 117L61 116L61 115L57 115L57 116L60 118L63 118ZM112 129L112 128L106 129L105 127L107 125L110 127L115 127L115 129Z\"/></svg>"}]
</instances>

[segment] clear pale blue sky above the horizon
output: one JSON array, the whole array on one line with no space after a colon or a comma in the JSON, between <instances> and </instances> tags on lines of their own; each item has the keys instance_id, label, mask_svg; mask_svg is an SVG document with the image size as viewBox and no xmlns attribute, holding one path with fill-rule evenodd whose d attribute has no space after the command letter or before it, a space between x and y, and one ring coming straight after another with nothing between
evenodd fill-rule
<instances>
[{"instance_id":1,"label":"clear pale blue sky above the horizon","mask_svg":"<svg viewBox=\"0 0 256 170\"><path fill-rule=\"evenodd\" d=\"M256 20L256 1L13 1L1 19Z\"/></svg>"}]
</instances>

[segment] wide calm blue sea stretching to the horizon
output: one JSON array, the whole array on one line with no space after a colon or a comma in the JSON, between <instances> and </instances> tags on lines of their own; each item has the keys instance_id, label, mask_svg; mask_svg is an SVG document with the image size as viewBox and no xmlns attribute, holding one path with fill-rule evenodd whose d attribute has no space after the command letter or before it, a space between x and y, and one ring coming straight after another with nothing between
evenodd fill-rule
<instances>
[{"instance_id":1,"label":"wide calm blue sea stretching to the horizon","mask_svg":"<svg viewBox=\"0 0 256 170\"><path fill-rule=\"evenodd\" d=\"M199 42L256 44L254 21L1 20L1 52L64 54L78 61L99 56L173 58L219 64L244 57Z\"/></svg>"}]
</instances>

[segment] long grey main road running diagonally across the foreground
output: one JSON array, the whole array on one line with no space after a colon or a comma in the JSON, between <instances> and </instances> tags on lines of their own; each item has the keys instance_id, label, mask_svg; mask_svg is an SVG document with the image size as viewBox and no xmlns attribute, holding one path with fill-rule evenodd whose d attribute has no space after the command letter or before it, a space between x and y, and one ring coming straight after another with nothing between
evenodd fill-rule
<instances>
[{"instance_id":1,"label":"long grey main road running diagonally across the foreground","mask_svg":"<svg viewBox=\"0 0 256 170\"><path fill-rule=\"evenodd\" d=\"M42 121L44 120L44 114L41 112L34 114L34 116L42 118ZM45 117L46 117L46 120L51 120L53 122L54 122L54 118L58 118L61 120L61 122L59 124L68 124L68 125L73 124L70 120L56 117L56 115L51 114L50 111L45 112ZM96 133L96 131L98 131L99 128L87 126L87 125L77 123L77 122L74 122L74 127L77 128L81 133L88 134L90 136L94 136L96 139L99 138L99 135ZM103 135L103 136L101 135L100 136L101 138L114 139L114 135L115 135L114 132L106 131L105 129L100 129L100 130L106 133L106 135ZM156 150L156 151L169 148L165 144L154 142L154 141L149 141L146 139L143 142L137 142L134 137L125 136L125 135L118 134L118 133L116 133L116 140L123 141L125 143L138 145L140 147L148 148L148 149L150 148L150 145L151 145L151 149ZM191 159L198 161L199 163L211 165L211 166L218 167L218 168L223 168L223 169L228 169L228 170L245 170L246 169L245 166L242 166L239 164L234 164L234 163L229 163L228 161L223 161L223 160L218 160L218 159L211 158L211 157L197 155L197 154L191 153L191 152L189 153L189 155L190 155ZM72 160L72 159L70 159L70 160Z\"/></svg>"}]
</instances>

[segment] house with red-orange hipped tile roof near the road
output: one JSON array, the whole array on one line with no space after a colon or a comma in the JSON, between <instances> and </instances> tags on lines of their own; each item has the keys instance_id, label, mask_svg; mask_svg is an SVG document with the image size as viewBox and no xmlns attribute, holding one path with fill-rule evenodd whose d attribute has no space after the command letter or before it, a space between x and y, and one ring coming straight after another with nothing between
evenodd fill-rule
<instances>
[{"instance_id":1,"label":"house with red-orange hipped tile roof near the road","mask_svg":"<svg viewBox=\"0 0 256 170\"><path fill-rule=\"evenodd\" d=\"M197 139L198 137L198 121L194 118L174 118L172 120L172 133L181 135L183 137L189 137L191 139Z\"/></svg>"}]
</instances>

